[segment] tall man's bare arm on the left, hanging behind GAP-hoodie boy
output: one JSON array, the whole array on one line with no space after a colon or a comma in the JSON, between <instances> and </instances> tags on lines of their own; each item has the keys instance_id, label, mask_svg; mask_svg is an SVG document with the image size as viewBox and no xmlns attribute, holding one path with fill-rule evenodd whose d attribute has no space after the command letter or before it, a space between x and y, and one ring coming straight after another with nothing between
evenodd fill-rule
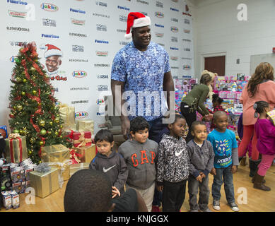
<instances>
[{"instance_id":1,"label":"tall man's bare arm on the left, hanging behind GAP-hoodie boy","mask_svg":"<svg viewBox=\"0 0 275 226\"><path fill-rule=\"evenodd\" d=\"M127 115L125 115L126 109L123 109L125 100L122 100L122 93L124 92L125 83L122 81L116 81L111 79L111 89L112 89L112 97L113 102L115 104L115 108L121 114L120 119L122 121L122 133L127 140L127 134L130 133L130 121ZM115 112L114 112L115 113Z\"/></svg>"}]
</instances>

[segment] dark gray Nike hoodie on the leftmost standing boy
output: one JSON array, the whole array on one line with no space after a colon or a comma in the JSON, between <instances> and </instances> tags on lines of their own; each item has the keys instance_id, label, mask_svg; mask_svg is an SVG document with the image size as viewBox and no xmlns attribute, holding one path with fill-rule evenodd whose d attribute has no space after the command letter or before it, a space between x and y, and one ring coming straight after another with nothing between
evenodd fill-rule
<instances>
[{"instance_id":1,"label":"dark gray Nike hoodie on the leftmost standing boy","mask_svg":"<svg viewBox=\"0 0 275 226\"><path fill-rule=\"evenodd\" d=\"M109 157L97 153L90 162L89 168L107 174L107 177L112 182L112 186L115 186L120 191L120 194L124 193L124 184L128 177L128 169L122 155L116 153L115 150L112 150Z\"/></svg>"}]
</instances>

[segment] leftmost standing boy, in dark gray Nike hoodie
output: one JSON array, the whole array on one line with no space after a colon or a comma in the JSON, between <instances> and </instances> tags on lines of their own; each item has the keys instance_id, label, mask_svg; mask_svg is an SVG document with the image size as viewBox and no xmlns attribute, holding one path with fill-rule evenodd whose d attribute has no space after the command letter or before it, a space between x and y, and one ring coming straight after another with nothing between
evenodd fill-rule
<instances>
[{"instance_id":1,"label":"leftmost standing boy, in dark gray Nike hoodie","mask_svg":"<svg viewBox=\"0 0 275 226\"><path fill-rule=\"evenodd\" d=\"M90 162L89 168L104 172L112 182L112 198L124 194L124 184L128 177L127 165L124 158L115 150L112 132L101 129L95 134L95 145L98 154Z\"/></svg>"}]
</instances>

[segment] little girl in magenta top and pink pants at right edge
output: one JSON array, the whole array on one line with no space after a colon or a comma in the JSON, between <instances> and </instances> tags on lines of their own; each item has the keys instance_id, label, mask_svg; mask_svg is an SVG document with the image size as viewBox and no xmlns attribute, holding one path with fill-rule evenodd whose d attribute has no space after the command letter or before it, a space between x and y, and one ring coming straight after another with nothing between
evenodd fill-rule
<instances>
[{"instance_id":1,"label":"little girl in magenta top and pink pants at right edge","mask_svg":"<svg viewBox=\"0 0 275 226\"><path fill-rule=\"evenodd\" d=\"M254 189L270 191L269 186L264 185L264 176L275 157L275 126L267 116L267 112L271 111L272 108L267 102L258 101L255 102L254 109L256 114L259 114L255 131L258 139L257 148L262 154L262 161L252 181L254 182Z\"/></svg>"}]
</instances>

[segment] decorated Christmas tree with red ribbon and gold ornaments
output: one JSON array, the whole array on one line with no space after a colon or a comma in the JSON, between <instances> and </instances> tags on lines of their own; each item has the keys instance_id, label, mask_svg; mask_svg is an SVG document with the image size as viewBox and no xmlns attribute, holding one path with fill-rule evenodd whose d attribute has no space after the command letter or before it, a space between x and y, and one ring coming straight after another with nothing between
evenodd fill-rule
<instances>
[{"instance_id":1,"label":"decorated Christmas tree with red ribbon and gold ornaments","mask_svg":"<svg viewBox=\"0 0 275 226\"><path fill-rule=\"evenodd\" d=\"M35 42L19 50L11 78L9 117L12 133L26 137L28 156L40 163L42 146L72 143L62 133L57 99L49 77L39 62Z\"/></svg>"}]
</instances>

